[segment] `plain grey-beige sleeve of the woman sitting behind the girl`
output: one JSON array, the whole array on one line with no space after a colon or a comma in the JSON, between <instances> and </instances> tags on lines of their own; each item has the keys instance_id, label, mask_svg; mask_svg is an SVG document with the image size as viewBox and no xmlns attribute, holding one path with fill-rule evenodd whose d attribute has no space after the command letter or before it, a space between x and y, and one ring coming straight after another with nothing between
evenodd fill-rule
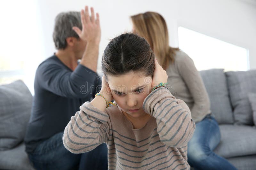
<instances>
[{"instance_id":1,"label":"plain grey-beige sleeve of the woman sitting behind the girl","mask_svg":"<svg viewBox=\"0 0 256 170\"><path fill-rule=\"evenodd\" d=\"M203 118L201 115L211 112L210 99L193 60L186 53L183 54L183 57L177 59L178 71L193 97L191 114L195 122L198 122Z\"/></svg>"}]
</instances>

